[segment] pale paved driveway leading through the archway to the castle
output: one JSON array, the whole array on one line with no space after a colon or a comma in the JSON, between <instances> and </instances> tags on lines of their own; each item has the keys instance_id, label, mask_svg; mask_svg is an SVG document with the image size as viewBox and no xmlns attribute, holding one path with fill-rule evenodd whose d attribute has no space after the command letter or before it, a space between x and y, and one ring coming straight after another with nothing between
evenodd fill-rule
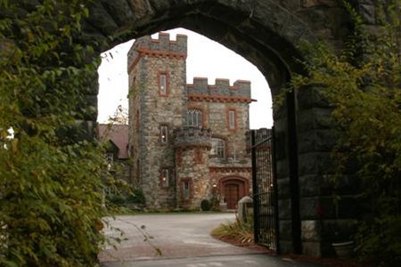
<instances>
[{"instance_id":1,"label":"pale paved driveway leading through the archway to the castle","mask_svg":"<svg viewBox=\"0 0 401 267\"><path fill-rule=\"evenodd\" d=\"M99 255L103 267L120 266L311 266L293 265L213 239L210 231L234 214L136 214L107 219L105 233L119 238L117 250L105 247ZM268 265L266 265L268 263Z\"/></svg>"}]
</instances>

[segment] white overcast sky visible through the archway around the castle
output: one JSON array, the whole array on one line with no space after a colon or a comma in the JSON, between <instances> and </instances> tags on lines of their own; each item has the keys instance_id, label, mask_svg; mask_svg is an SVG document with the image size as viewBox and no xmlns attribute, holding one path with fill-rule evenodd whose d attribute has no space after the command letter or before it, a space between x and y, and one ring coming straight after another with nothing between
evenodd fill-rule
<instances>
[{"instance_id":1,"label":"white overcast sky visible through the archway around the castle","mask_svg":"<svg viewBox=\"0 0 401 267\"><path fill-rule=\"evenodd\" d=\"M188 36L188 55L186 73L188 84L193 77L208 77L209 85L215 84L216 78L250 80L251 97L257 100L250 104L250 128L270 128L273 125L272 100L266 78L250 61L234 53L222 44L201 36L193 31L176 28L167 31L170 39L176 40L176 34ZM157 38L158 35L153 35ZM119 44L102 53L99 73L98 121L107 122L115 114L119 105L128 107L127 53L134 40Z\"/></svg>"}]
</instances>

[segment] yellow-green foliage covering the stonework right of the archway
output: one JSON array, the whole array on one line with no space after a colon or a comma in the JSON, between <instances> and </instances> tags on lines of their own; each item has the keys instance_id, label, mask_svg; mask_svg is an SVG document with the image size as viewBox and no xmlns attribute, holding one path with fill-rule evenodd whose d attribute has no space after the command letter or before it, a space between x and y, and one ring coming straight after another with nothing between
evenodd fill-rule
<instances>
[{"instance_id":1,"label":"yellow-green foliage covering the stonework right of the archway","mask_svg":"<svg viewBox=\"0 0 401 267\"><path fill-rule=\"evenodd\" d=\"M401 1L388 4L377 8L376 35L346 4L355 35L340 53L308 45L307 76L294 76L291 89L315 88L331 104L340 135L337 177L356 169L361 200L372 208L356 235L359 253L391 264L401 261Z\"/></svg>"}]
</instances>

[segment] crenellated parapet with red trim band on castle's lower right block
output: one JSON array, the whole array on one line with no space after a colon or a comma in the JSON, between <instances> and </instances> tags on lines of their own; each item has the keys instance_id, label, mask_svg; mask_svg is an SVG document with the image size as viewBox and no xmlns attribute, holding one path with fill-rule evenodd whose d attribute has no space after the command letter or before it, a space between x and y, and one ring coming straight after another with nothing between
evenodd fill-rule
<instances>
[{"instance_id":1,"label":"crenellated parapet with red trim band on castle's lower right block","mask_svg":"<svg viewBox=\"0 0 401 267\"><path fill-rule=\"evenodd\" d=\"M206 77L194 77L192 85L186 85L192 101L243 101L251 102L250 81L236 80L230 85L229 79L217 78L214 85Z\"/></svg>"}]
</instances>

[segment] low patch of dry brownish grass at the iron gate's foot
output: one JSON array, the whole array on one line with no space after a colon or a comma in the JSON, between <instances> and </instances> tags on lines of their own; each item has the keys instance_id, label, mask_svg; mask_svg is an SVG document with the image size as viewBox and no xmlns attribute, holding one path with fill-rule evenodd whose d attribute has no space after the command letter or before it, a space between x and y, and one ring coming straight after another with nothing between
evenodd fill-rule
<instances>
[{"instance_id":1,"label":"low patch of dry brownish grass at the iron gate's foot","mask_svg":"<svg viewBox=\"0 0 401 267\"><path fill-rule=\"evenodd\" d=\"M253 217L244 223L236 216L235 221L220 224L211 234L217 239L235 239L241 243L253 243Z\"/></svg>"}]
</instances>

